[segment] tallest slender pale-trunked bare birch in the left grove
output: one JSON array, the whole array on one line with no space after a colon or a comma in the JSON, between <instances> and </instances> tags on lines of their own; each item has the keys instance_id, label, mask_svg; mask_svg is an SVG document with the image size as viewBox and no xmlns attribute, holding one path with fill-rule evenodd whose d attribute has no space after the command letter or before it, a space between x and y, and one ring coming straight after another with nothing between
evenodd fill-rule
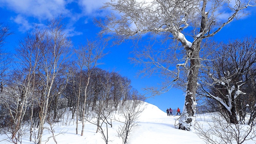
<instances>
[{"instance_id":1,"label":"tallest slender pale-trunked bare birch in the left grove","mask_svg":"<svg viewBox=\"0 0 256 144\"><path fill-rule=\"evenodd\" d=\"M45 30L47 35L44 37L44 47L40 47L40 53L43 57L41 67L41 79L44 80L43 92L41 98L40 127L38 144L41 144L44 122L48 114L48 106L53 82L62 70L63 65L69 60L71 54L71 42L64 33L64 24L62 17L52 18Z\"/></svg>"}]
</instances>

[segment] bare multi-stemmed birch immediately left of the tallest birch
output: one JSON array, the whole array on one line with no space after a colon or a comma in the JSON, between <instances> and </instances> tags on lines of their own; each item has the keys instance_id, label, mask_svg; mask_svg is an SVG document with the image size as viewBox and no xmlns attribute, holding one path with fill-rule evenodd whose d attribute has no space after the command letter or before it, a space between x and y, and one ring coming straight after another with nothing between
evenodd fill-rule
<instances>
[{"instance_id":1,"label":"bare multi-stemmed birch immediately left of the tallest birch","mask_svg":"<svg viewBox=\"0 0 256 144\"><path fill-rule=\"evenodd\" d=\"M12 82L8 84L8 87L12 89L10 95L13 95L14 99L13 101L6 99L9 101L6 104L10 105L8 107L11 118L11 139L15 142L21 139L18 132L23 128L23 118L30 105L29 97L32 96L35 73L41 59L38 47L41 46L42 35L44 34L38 33L35 29L34 32L28 33L16 48L15 62L19 65L10 76Z\"/></svg>"}]
</instances>

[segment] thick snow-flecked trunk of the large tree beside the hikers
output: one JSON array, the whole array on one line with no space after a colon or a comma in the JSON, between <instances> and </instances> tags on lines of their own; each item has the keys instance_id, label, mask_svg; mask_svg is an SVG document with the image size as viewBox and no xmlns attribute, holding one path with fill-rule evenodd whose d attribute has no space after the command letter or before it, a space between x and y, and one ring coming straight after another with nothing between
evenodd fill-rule
<instances>
[{"instance_id":1,"label":"thick snow-flecked trunk of the large tree beside the hikers","mask_svg":"<svg viewBox=\"0 0 256 144\"><path fill-rule=\"evenodd\" d=\"M206 4L206 0L203 0L200 33L205 32L207 26L207 14L205 13ZM183 107L183 115L179 121L179 129L183 130L191 130L193 128L195 106L197 105L195 102L195 95L197 92L197 77L200 67L199 53L201 49L201 42L202 39L197 39L197 42L193 42L190 48L185 47L187 50L187 56L190 58L190 67L187 75L187 89Z\"/></svg>"}]
</instances>

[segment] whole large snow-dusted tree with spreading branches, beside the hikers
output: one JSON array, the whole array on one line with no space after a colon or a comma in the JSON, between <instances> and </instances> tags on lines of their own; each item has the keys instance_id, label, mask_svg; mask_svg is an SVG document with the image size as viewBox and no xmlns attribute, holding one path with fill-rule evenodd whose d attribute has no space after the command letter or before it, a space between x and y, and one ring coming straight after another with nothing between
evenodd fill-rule
<instances>
[{"instance_id":1,"label":"whole large snow-dusted tree with spreading branches, beside the hikers","mask_svg":"<svg viewBox=\"0 0 256 144\"><path fill-rule=\"evenodd\" d=\"M179 80L181 68L187 69L184 114L180 118L179 129L191 130L195 115L197 77L201 65L201 42L214 36L234 19L247 15L245 9L251 6L255 6L255 0L111 0L102 8L110 8L118 16L110 14L104 20L95 20L95 23L102 28L101 35L111 34L112 38L116 38L117 44L125 39L142 38L142 35L149 33L152 36L163 35L163 42L166 43L175 39L183 47L183 60L176 65L177 70L158 61L161 57L154 58L143 51L142 55L146 59L137 58L134 62L142 62L154 72L161 70L169 73L168 78L172 80L165 83L165 89L157 89L157 94L165 92ZM229 16L221 19L224 12ZM166 48L168 49L169 47Z\"/></svg>"}]
</instances>

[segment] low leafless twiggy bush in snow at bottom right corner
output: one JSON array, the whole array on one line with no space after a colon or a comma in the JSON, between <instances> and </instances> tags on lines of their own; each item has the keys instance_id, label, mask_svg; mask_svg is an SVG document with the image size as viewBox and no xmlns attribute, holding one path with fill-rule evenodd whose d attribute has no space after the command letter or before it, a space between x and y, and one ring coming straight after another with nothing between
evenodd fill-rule
<instances>
[{"instance_id":1,"label":"low leafless twiggy bush in snow at bottom right corner","mask_svg":"<svg viewBox=\"0 0 256 144\"><path fill-rule=\"evenodd\" d=\"M206 144L242 144L245 141L255 141L256 127L252 124L228 123L219 114L213 114L206 123L197 121L195 130Z\"/></svg>"}]
</instances>

